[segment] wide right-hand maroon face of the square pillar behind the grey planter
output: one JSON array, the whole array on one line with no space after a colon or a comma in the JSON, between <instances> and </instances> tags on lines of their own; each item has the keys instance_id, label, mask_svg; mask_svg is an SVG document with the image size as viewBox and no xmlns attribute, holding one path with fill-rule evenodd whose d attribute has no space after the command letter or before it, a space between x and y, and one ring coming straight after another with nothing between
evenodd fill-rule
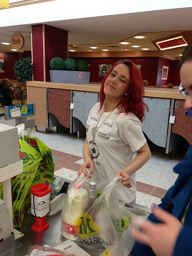
<instances>
[{"instance_id":1,"label":"wide right-hand maroon face of the square pillar behind the grey planter","mask_svg":"<svg viewBox=\"0 0 192 256\"><path fill-rule=\"evenodd\" d=\"M68 32L66 30L45 25L45 62L46 81L50 81L49 63L54 57L66 60L68 54ZM34 79L35 80L35 79Z\"/></svg>"}]
</instances>

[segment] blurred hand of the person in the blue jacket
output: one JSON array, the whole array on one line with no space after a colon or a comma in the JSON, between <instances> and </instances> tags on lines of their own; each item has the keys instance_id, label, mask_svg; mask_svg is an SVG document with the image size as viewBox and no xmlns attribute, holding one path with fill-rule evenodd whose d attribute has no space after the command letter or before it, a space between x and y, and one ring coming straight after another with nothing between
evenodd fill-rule
<instances>
[{"instance_id":1,"label":"blurred hand of the person in the blue jacket","mask_svg":"<svg viewBox=\"0 0 192 256\"><path fill-rule=\"evenodd\" d=\"M182 224L156 205L152 205L152 212L162 223L146 220L139 225L141 230L131 229L132 235L138 242L150 246L157 256L172 256Z\"/></svg>"}]
</instances>

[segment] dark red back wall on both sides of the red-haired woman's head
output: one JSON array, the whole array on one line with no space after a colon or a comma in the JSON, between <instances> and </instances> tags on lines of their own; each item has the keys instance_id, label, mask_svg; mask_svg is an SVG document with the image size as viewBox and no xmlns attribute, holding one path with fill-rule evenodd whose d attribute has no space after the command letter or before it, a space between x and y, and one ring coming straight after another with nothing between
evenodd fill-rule
<instances>
[{"instance_id":1,"label":"dark red back wall on both sides of the red-haired woman's head","mask_svg":"<svg viewBox=\"0 0 192 256\"><path fill-rule=\"evenodd\" d=\"M75 58L76 60L82 58ZM87 60L90 73L90 82L101 82L103 77L98 76L99 64L114 64L118 60L125 58L83 58ZM142 78L148 80L150 85L156 85L156 74L158 70L158 57L154 58L128 58L135 64L141 65Z\"/></svg>"}]
</instances>

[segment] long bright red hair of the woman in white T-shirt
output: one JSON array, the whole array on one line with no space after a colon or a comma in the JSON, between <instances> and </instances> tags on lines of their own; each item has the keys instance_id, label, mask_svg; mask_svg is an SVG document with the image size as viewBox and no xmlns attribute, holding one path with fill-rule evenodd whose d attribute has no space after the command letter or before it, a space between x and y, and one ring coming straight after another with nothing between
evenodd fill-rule
<instances>
[{"instance_id":1,"label":"long bright red hair of the woman in white T-shirt","mask_svg":"<svg viewBox=\"0 0 192 256\"><path fill-rule=\"evenodd\" d=\"M114 63L110 70L107 72L106 76L104 77L104 80L102 81L100 89L100 110L102 109L105 100L105 80L112 72L114 67L116 67L119 64L124 64L128 66L130 70L130 80L128 91L126 92L127 95L124 96L122 100L120 100L120 102L117 105L117 108L119 110L119 113L133 113L142 122L144 118L144 112L146 109L148 110L148 106L143 102L144 86L142 82L141 73L138 70L137 66L130 60L120 60Z\"/></svg>"}]
</instances>

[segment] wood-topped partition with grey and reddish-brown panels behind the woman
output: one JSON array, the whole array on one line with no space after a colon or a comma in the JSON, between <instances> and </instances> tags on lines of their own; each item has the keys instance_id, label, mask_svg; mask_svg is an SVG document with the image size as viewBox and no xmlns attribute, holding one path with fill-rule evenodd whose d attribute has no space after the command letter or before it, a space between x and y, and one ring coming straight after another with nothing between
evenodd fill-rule
<instances>
[{"instance_id":1,"label":"wood-topped partition with grey and reddish-brown panels behind the woman","mask_svg":"<svg viewBox=\"0 0 192 256\"><path fill-rule=\"evenodd\" d=\"M27 82L28 104L36 104L36 126L52 128L62 125L78 137L85 131L90 109L99 100L100 84L56 84L51 82ZM192 144L192 117L182 108L184 99L177 89L145 87L144 102L149 112L142 124L144 134L168 154L178 147L182 136ZM175 116L174 123L170 120ZM84 135L84 134L83 134ZM179 136L175 136L179 135Z\"/></svg>"}]
</instances>

